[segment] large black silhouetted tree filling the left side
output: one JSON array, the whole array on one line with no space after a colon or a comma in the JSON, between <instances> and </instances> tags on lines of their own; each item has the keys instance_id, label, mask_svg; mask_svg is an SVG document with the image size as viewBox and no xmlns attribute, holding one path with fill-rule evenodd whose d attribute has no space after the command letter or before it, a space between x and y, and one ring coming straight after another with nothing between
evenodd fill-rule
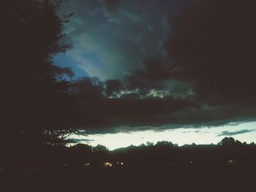
<instances>
[{"instance_id":1,"label":"large black silhouetted tree filling the left side","mask_svg":"<svg viewBox=\"0 0 256 192\"><path fill-rule=\"evenodd\" d=\"M72 72L54 66L51 58L69 47L60 40L72 14L59 17L59 3L48 0L10 0L1 7L1 135L24 145L60 142L59 136L67 134L61 130L69 128L71 100L69 82L61 74Z\"/></svg>"}]
</instances>

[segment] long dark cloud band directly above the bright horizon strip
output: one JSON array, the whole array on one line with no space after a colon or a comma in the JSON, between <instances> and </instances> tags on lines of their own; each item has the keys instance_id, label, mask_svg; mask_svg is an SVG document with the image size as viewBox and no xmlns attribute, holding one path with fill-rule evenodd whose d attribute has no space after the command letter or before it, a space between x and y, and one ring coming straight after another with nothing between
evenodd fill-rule
<instances>
[{"instance_id":1,"label":"long dark cloud band directly above the bright horizon strip","mask_svg":"<svg viewBox=\"0 0 256 192\"><path fill-rule=\"evenodd\" d=\"M80 94L72 107L74 127L94 133L114 133L222 126L230 122L255 120L255 106L211 106L200 104L195 99L177 99L173 96L141 98L141 93L127 93L110 99L106 93L118 90L120 82L110 80L107 83L113 86L109 91L106 82L95 78L87 77L75 83L74 87L78 88Z\"/></svg>"}]
</instances>

